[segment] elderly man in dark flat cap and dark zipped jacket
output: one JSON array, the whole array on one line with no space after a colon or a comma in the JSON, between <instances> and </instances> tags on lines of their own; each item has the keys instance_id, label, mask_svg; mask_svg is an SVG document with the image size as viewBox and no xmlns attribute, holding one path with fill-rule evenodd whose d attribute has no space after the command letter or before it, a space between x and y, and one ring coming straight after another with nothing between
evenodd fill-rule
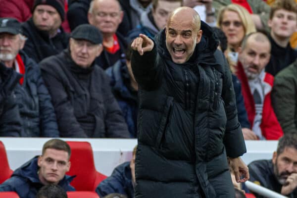
<instances>
[{"instance_id":1,"label":"elderly man in dark flat cap and dark zipped jacket","mask_svg":"<svg viewBox=\"0 0 297 198\"><path fill-rule=\"evenodd\" d=\"M68 49L40 63L61 137L128 138L109 79L94 62L103 48L101 33L83 24L70 37Z\"/></svg>"}]
</instances>

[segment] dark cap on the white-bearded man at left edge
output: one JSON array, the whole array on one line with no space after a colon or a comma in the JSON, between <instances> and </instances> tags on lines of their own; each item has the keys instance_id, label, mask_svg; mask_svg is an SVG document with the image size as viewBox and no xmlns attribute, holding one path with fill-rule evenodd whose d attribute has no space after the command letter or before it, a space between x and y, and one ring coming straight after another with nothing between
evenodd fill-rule
<instances>
[{"instance_id":1,"label":"dark cap on the white-bearded man at left edge","mask_svg":"<svg viewBox=\"0 0 297 198\"><path fill-rule=\"evenodd\" d=\"M21 23L15 18L0 18L0 33L21 34Z\"/></svg>"}]
</instances>

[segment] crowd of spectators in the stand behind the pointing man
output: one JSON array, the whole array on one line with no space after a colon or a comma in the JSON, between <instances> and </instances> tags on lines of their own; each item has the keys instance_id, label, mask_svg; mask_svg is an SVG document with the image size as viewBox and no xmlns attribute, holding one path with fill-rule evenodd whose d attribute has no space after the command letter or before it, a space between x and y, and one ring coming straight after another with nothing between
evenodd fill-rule
<instances>
[{"instance_id":1,"label":"crowd of spectators in the stand behind the pointing man","mask_svg":"<svg viewBox=\"0 0 297 198\"><path fill-rule=\"evenodd\" d=\"M154 38L180 6L193 7L220 41L245 140L297 132L297 0L0 4L0 137L137 138L130 45L139 34ZM98 194L132 198L131 163L113 173L128 173L130 186L109 192L112 175Z\"/></svg>"}]
</instances>

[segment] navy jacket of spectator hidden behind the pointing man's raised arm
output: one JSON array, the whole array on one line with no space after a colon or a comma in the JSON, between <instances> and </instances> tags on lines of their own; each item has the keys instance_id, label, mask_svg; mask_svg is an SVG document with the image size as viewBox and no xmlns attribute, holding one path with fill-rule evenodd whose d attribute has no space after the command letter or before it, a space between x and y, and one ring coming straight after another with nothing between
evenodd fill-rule
<instances>
[{"instance_id":1,"label":"navy jacket of spectator hidden behind the pointing man's raised arm","mask_svg":"<svg viewBox=\"0 0 297 198\"><path fill-rule=\"evenodd\" d=\"M131 91L125 85L125 82L130 82L125 60L118 60L112 67L107 68L105 73L111 79L110 86L123 112L130 138L137 138L138 101L137 97L133 97Z\"/></svg>"}]
</instances>

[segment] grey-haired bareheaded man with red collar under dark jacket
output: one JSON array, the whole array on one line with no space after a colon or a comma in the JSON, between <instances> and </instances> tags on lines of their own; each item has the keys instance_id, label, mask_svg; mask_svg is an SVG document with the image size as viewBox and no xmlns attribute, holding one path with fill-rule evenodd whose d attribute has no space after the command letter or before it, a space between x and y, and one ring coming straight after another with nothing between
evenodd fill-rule
<instances>
[{"instance_id":1,"label":"grey-haired bareheaded man with red collar under dark jacket","mask_svg":"<svg viewBox=\"0 0 297 198\"><path fill-rule=\"evenodd\" d=\"M123 14L118 0L93 0L90 4L89 23L96 26L103 36L104 48L100 56L96 58L96 63L103 69L125 57L127 43L125 38L117 32L123 20Z\"/></svg>"}]
</instances>

